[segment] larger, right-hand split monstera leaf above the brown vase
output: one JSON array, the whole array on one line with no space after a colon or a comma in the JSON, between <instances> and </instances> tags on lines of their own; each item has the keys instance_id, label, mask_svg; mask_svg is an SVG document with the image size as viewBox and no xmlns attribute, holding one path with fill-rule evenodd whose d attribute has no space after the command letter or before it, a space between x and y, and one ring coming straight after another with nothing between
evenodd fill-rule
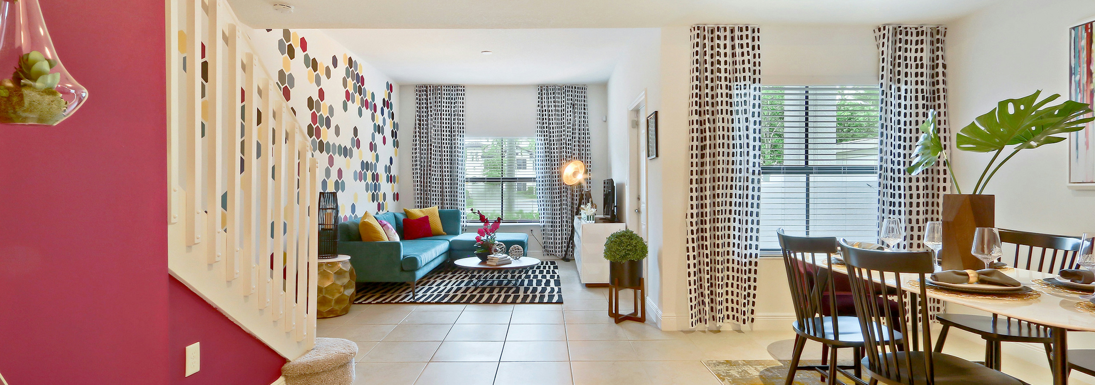
<instances>
[{"instance_id":1,"label":"larger, right-hand split monstera leaf above the brown vase","mask_svg":"<svg viewBox=\"0 0 1095 385\"><path fill-rule=\"evenodd\" d=\"M1038 101L1041 91L1021 98L1000 102L996 108L978 116L973 122L958 131L957 145L963 151L992 152L1015 145L1015 151L1034 149L1044 144L1063 141L1054 135L1079 131L1084 124L1095 118L1084 118L1092 108L1087 104L1065 101L1042 108L1060 97L1053 94Z\"/></svg>"}]
</instances>

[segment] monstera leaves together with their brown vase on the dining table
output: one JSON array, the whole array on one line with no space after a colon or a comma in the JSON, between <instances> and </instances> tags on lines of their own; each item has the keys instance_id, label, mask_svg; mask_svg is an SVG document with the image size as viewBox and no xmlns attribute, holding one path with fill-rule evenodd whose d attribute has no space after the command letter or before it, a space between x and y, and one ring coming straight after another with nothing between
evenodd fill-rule
<instances>
[{"instance_id":1,"label":"monstera leaves together with their brown vase on the dining table","mask_svg":"<svg viewBox=\"0 0 1095 385\"><path fill-rule=\"evenodd\" d=\"M1082 130L1087 122L1095 120L1085 117L1092 113L1088 104L1064 101L1047 106L1061 95L1053 94L1039 101L1040 95L1039 90L1025 97L1001 101L995 108L978 116L955 136L958 150L993 153L970 190L972 194L961 194L947 153L943 150L935 112L930 112L927 120L920 126L915 159L906 172L918 175L942 161L957 192L943 196L944 268L976 269L981 266L981 261L969 253L973 230L995 226L995 196L984 195L984 188L1004 163L1022 150L1064 141L1067 138L1057 135ZM1000 160L1000 155L1008 149L1011 152Z\"/></svg>"}]
</instances>

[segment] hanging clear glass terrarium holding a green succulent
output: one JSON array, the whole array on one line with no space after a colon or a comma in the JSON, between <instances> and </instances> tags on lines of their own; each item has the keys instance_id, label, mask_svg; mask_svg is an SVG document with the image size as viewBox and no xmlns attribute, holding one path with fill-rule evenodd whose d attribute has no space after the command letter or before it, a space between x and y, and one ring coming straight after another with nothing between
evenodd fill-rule
<instances>
[{"instance_id":1,"label":"hanging clear glass terrarium holding a green succulent","mask_svg":"<svg viewBox=\"0 0 1095 385\"><path fill-rule=\"evenodd\" d=\"M53 126L87 100L54 50L38 0L0 0L0 124Z\"/></svg>"}]
</instances>

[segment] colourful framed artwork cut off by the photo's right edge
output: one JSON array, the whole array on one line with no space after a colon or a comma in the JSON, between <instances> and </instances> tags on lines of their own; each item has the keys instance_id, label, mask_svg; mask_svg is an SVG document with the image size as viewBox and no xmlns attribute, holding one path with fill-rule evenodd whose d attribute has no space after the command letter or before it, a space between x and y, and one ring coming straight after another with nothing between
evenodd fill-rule
<instances>
[{"instance_id":1,"label":"colourful framed artwork cut off by the photo's right edge","mask_svg":"<svg viewBox=\"0 0 1095 385\"><path fill-rule=\"evenodd\" d=\"M1069 98L1080 103L1095 102L1095 21L1072 27L1072 57L1069 60ZM1069 133L1069 183L1095 184L1095 124Z\"/></svg>"}]
</instances>

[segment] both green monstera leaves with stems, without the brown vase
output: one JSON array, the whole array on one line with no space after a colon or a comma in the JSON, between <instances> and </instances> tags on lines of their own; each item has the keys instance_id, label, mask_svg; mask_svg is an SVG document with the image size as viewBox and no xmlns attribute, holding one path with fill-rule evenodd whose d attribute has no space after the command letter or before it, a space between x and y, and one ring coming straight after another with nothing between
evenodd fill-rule
<instances>
[{"instance_id":1,"label":"both green monstera leaves with stems, without the brown vase","mask_svg":"<svg viewBox=\"0 0 1095 385\"><path fill-rule=\"evenodd\" d=\"M973 194L983 194L992 176L996 175L1000 167L1019 151L1064 141L1065 137L1058 135L1082 130L1085 124L1095 120L1095 117L1087 116L1092 113L1088 104L1064 101L1061 104L1046 106L1061 95L1053 94L1039 101L1040 95L1041 90L1025 97L1002 101L996 108L978 116L958 131L955 138L958 150L993 153L981 176L977 178L977 184L973 185ZM930 113L927 120L920 126L920 131L917 158L906 172L917 175L942 160L950 172L950 183L955 191L961 194L946 151L943 151L935 112ZM1011 152L1003 160L999 160L1007 150Z\"/></svg>"}]
</instances>

